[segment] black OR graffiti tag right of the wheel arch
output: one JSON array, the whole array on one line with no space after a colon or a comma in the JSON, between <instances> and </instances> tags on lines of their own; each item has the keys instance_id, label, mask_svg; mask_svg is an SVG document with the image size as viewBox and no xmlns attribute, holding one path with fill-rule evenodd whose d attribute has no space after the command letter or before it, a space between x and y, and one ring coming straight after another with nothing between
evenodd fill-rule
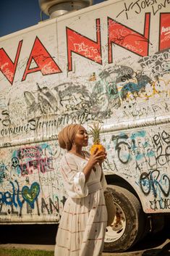
<instances>
[{"instance_id":1,"label":"black OR graffiti tag right of the wheel arch","mask_svg":"<svg viewBox=\"0 0 170 256\"><path fill-rule=\"evenodd\" d=\"M142 173L140 176L140 188L145 196L152 193L156 198L162 192L164 197L169 197L170 179L166 174L161 174L160 170Z\"/></svg>"}]
</instances>

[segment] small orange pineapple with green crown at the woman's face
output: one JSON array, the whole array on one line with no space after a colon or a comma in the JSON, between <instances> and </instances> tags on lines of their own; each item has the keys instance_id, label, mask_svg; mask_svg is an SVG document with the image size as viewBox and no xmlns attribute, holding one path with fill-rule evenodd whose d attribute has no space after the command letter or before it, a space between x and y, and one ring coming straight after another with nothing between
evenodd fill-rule
<instances>
[{"instance_id":1,"label":"small orange pineapple with green crown at the woman's face","mask_svg":"<svg viewBox=\"0 0 170 256\"><path fill-rule=\"evenodd\" d=\"M101 127L99 126L99 124L94 123L93 127L90 126L90 132L92 133L92 136L93 136L93 146L91 146L90 148L91 154L93 154L96 147L98 148L98 151L105 151L103 145L101 145L100 143L100 131L101 131Z\"/></svg>"}]
</instances>

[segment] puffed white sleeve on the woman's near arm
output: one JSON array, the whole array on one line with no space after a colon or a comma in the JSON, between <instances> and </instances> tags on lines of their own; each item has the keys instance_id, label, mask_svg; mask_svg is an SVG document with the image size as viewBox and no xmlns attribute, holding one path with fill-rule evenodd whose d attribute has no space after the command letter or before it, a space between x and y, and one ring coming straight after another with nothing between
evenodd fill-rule
<instances>
[{"instance_id":1,"label":"puffed white sleeve on the woman's near arm","mask_svg":"<svg viewBox=\"0 0 170 256\"><path fill-rule=\"evenodd\" d=\"M66 154L62 157L61 175L69 197L80 198L88 196L88 186L85 183L85 174L83 173L85 165L86 162L82 162L81 166L77 166L71 154Z\"/></svg>"}]
</instances>

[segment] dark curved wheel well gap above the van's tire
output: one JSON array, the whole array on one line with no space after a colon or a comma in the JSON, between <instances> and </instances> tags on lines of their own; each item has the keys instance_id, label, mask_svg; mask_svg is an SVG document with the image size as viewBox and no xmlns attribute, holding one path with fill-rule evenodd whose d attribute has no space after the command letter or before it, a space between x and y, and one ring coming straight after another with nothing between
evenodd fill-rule
<instances>
[{"instance_id":1,"label":"dark curved wheel well gap above the van's tire","mask_svg":"<svg viewBox=\"0 0 170 256\"><path fill-rule=\"evenodd\" d=\"M124 178L117 176L116 174L106 175L106 181L108 185L116 185L116 186L122 186L122 188L127 189L132 194L134 194L140 201L140 198L138 197L137 192L135 189L126 181ZM140 202L141 204L141 202Z\"/></svg>"}]
</instances>

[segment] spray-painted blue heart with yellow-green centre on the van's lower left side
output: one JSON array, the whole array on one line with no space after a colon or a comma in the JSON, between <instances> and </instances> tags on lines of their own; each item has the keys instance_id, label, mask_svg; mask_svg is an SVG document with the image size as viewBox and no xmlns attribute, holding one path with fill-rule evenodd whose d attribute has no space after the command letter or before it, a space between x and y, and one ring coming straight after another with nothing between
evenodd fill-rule
<instances>
[{"instance_id":1,"label":"spray-painted blue heart with yellow-green centre on the van's lower left side","mask_svg":"<svg viewBox=\"0 0 170 256\"><path fill-rule=\"evenodd\" d=\"M35 199L37 199L38 194L40 193L40 185L37 182L34 182L30 189L28 186L23 186L22 188L22 197L25 201L30 205L30 207L34 208Z\"/></svg>"}]
</instances>

